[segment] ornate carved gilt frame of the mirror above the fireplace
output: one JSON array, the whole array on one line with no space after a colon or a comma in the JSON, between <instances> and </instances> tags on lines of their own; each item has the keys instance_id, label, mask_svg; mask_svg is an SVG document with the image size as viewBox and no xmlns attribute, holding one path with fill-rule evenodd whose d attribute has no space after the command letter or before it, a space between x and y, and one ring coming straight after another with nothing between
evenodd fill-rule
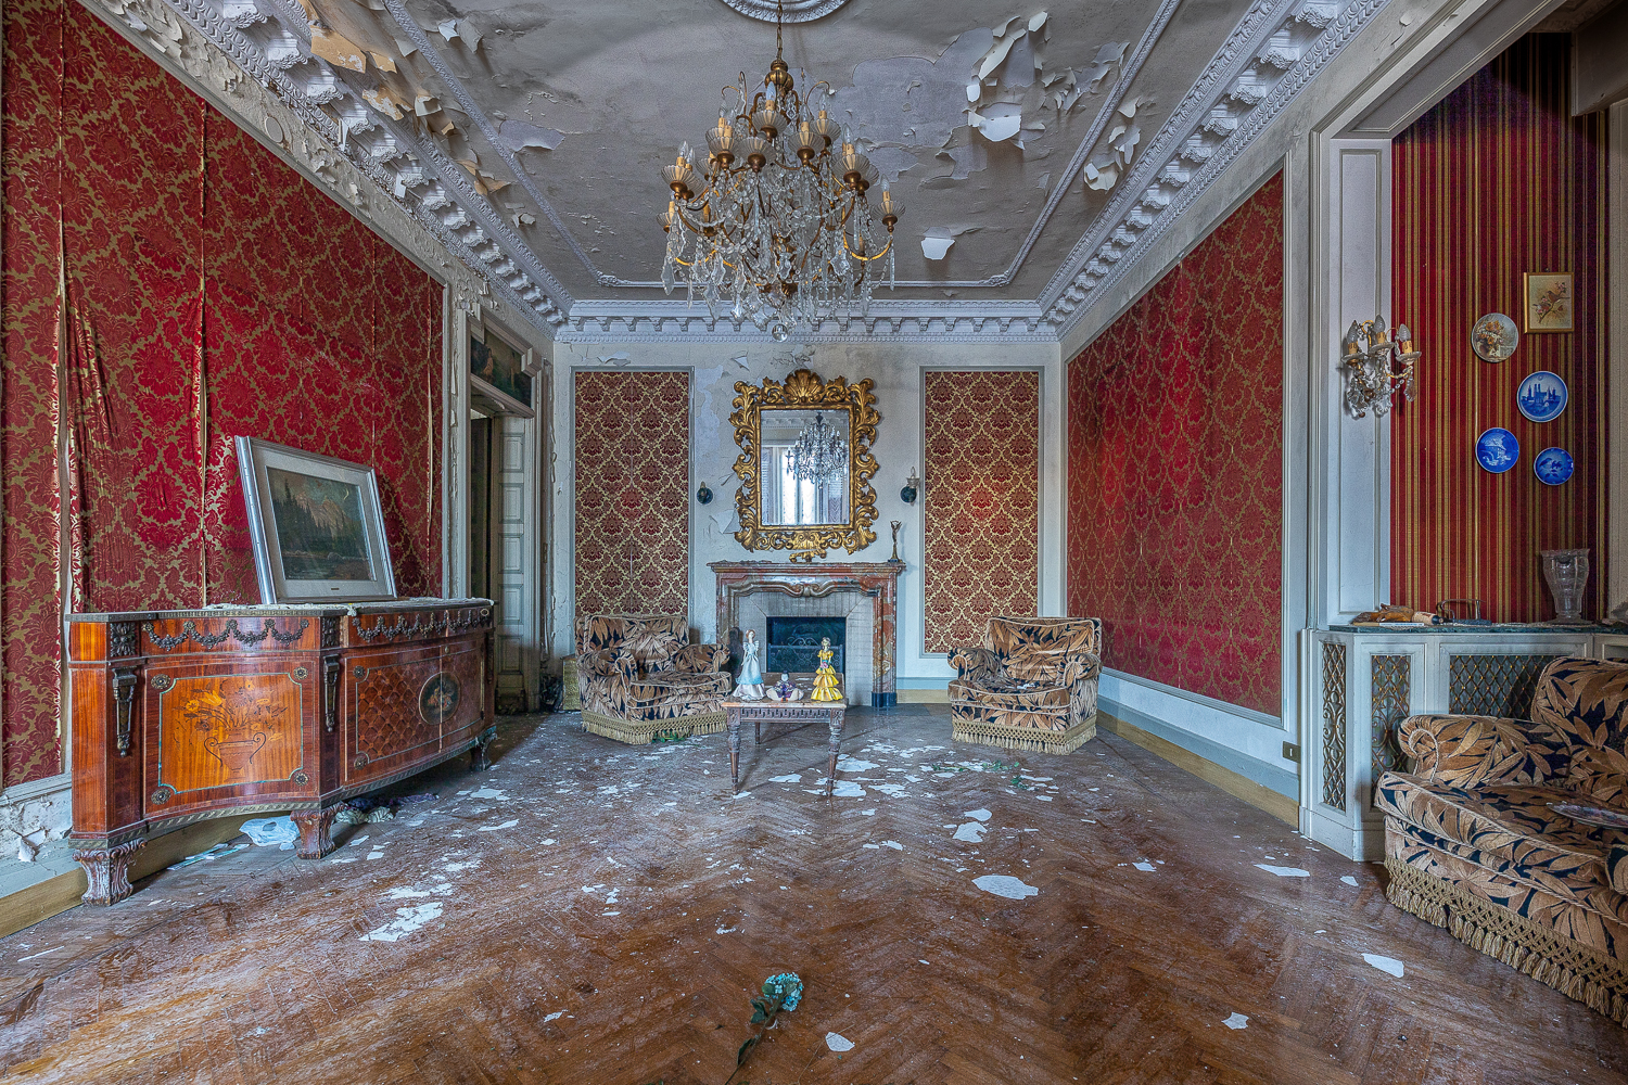
<instances>
[{"instance_id":1,"label":"ornate carved gilt frame of the mirror above the fireplace","mask_svg":"<svg viewBox=\"0 0 1628 1085\"><path fill-rule=\"evenodd\" d=\"M741 530L734 537L742 547L790 550L793 561L812 561L824 558L827 550L843 548L856 553L876 542L876 532L871 530L871 524L876 522L876 490L871 486L871 478L877 472L877 464L871 455L871 444L876 441L876 423L881 421L881 415L876 413L873 387L869 377L856 384L848 384L845 377L827 382L811 369L798 369L785 382L770 379L760 386L736 382L729 425L734 426L734 442L741 446L741 455L734 460L734 473L741 478L741 488L734 495ZM847 524L764 525L759 449L765 407L848 412Z\"/></svg>"}]
</instances>

